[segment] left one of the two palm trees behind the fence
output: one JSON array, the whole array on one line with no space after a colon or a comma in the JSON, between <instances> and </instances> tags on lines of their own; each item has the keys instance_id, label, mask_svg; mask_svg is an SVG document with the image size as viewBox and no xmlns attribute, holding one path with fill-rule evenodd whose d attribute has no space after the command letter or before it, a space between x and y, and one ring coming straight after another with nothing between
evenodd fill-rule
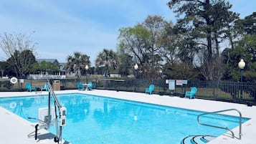
<instances>
[{"instance_id":1,"label":"left one of the two palm trees behind the fence","mask_svg":"<svg viewBox=\"0 0 256 144\"><path fill-rule=\"evenodd\" d=\"M80 52L74 52L73 55L67 56L66 70L69 73L75 73L75 76L79 78L81 71L85 71L85 65L90 67L90 57Z\"/></svg>"}]
</instances>

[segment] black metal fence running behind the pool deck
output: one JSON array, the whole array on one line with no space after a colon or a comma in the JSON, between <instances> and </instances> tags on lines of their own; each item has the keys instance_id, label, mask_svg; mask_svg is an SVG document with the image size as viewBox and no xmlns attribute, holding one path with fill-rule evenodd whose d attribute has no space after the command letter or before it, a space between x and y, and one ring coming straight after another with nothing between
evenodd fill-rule
<instances>
[{"instance_id":1,"label":"black metal fence running behind the pool deck","mask_svg":"<svg viewBox=\"0 0 256 144\"><path fill-rule=\"evenodd\" d=\"M54 80L49 80L54 82ZM25 84L29 82L33 87L44 86L46 80L24 80L11 84L6 79L0 80L0 92L3 91L26 91ZM169 90L169 85L166 80L146 80L127 78L122 80L113 79L95 79L92 77L82 79L63 79L60 80L60 90L75 90L77 82L93 82L95 89L100 90L116 90L128 92L145 92L146 87L153 84L155 89L154 94L170 95L184 97L186 91L190 87L197 87L196 98L208 100L220 100L227 102L244 103L247 105L256 105L256 84L251 82L222 82L222 81L198 81L189 80L186 85L175 85L175 90Z\"/></svg>"}]
</instances>

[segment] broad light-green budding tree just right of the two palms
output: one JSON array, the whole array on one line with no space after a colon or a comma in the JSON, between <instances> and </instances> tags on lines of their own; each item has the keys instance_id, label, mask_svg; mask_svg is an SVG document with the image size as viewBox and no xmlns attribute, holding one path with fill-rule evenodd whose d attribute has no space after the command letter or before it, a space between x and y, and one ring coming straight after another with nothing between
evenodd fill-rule
<instances>
[{"instance_id":1,"label":"broad light-green budding tree just right of the two palms","mask_svg":"<svg viewBox=\"0 0 256 144\"><path fill-rule=\"evenodd\" d=\"M140 65L143 77L158 77L161 63L170 58L170 53L163 53L171 47L170 42L167 42L167 39L170 40L166 35L167 27L171 27L171 22L163 20L163 17L148 16L134 27L120 29L119 47L128 49L128 54L133 57L133 64ZM163 55L165 59L162 59Z\"/></svg>"}]
</instances>

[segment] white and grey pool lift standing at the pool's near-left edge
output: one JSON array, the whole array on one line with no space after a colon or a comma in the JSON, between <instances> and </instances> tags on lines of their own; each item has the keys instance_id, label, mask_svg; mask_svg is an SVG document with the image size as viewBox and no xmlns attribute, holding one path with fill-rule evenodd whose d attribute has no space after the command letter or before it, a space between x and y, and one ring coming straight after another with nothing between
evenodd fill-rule
<instances>
[{"instance_id":1,"label":"white and grey pool lift standing at the pool's near-left edge","mask_svg":"<svg viewBox=\"0 0 256 144\"><path fill-rule=\"evenodd\" d=\"M57 97L54 94L54 91L52 89L52 85L49 83L49 80L47 80L47 88L49 91L48 107L39 108L38 119L33 117L28 117L28 118L38 120L37 125L35 125L35 136L34 136L35 140L37 140L37 131L39 129L41 128L49 129L55 123L56 136L54 137L54 142L62 143L62 126L66 125L67 108L62 107L62 105L60 105L60 102L57 100ZM51 96L53 97L53 100L54 100L54 107L51 107L50 105ZM59 115L57 115L57 112L59 112Z\"/></svg>"}]
</instances>

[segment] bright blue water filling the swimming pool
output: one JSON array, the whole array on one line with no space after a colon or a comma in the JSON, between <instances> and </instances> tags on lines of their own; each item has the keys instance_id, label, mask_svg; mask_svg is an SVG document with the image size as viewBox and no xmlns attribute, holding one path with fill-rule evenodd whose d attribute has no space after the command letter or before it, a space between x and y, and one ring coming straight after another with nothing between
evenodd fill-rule
<instances>
[{"instance_id":1,"label":"bright blue water filling the swimming pool","mask_svg":"<svg viewBox=\"0 0 256 144\"><path fill-rule=\"evenodd\" d=\"M76 93L57 97L67 107L62 137L72 144L179 144L188 135L227 132L199 125L199 111ZM24 119L38 117L39 107L47 107L47 102L47 95L0 98L1 107ZM209 115L202 121L228 128L239 125L238 117L228 115ZM50 131L54 133L54 127Z\"/></svg>"}]
</instances>

